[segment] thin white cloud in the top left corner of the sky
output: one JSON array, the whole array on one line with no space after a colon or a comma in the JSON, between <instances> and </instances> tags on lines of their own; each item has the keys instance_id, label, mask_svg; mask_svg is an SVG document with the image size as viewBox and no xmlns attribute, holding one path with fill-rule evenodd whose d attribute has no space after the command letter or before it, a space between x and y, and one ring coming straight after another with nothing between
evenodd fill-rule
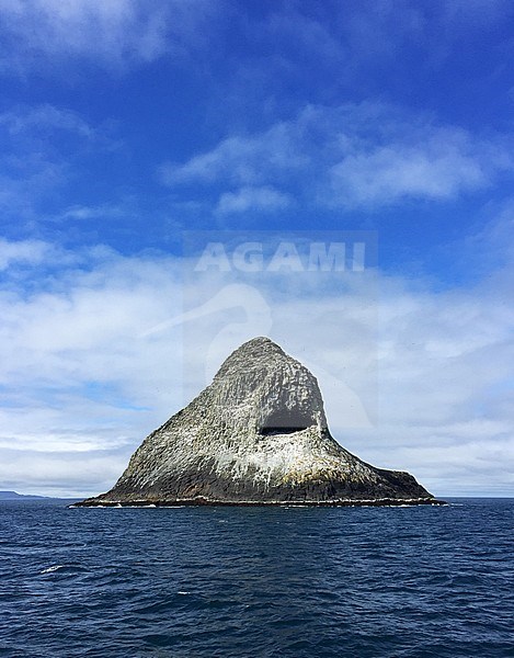
<instances>
[{"instance_id":1,"label":"thin white cloud in the top left corner of the sky","mask_svg":"<svg viewBox=\"0 0 514 658\"><path fill-rule=\"evenodd\" d=\"M204 0L7 0L3 68L23 72L81 57L124 69L182 55L202 43L199 31L214 12Z\"/></svg>"}]
</instances>

